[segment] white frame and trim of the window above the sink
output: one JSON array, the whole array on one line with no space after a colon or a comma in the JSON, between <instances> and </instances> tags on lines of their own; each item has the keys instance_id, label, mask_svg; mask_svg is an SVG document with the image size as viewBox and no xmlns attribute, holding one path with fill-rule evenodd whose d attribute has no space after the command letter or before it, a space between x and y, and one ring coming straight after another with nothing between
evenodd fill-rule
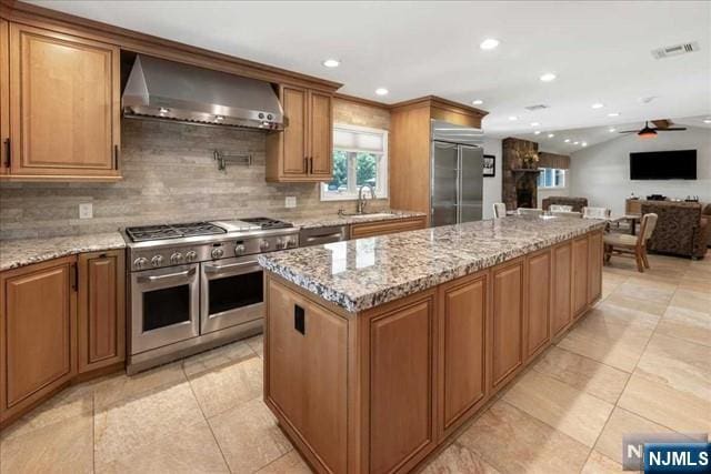
<instances>
[{"instance_id":1,"label":"white frame and trim of the window above the sink","mask_svg":"<svg viewBox=\"0 0 711 474\"><path fill-rule=\"evenodd\" d=\"M375 183L377 183L377 189L375 189L375 195L373 196L374 199L388 199L389 195L389 188L390 188L390 182L389 182L389 178L388 178L388 169L389 169L389 157L388 157L388 139L389 139L389 131L384 130L384 129L374 129L374 128L370 128L370 127L361 127L361 125L351 125L349 123L336 123L333 124L333 132L336 132L337 130L342 130L344 132L362 132L362 133L374 133L374 134L379 134L382 135L382 141L383 141L383 148L382 148L382 152L373 152L372 150L358 150L358 149L341 149L341 148L337 148L336 145L333 145L333 149L331 150L331 153L333 153L334 151L342 151L346 153L370 153L370 154L374 154L374 155L380 155L380 162L377 167L375 170ZM328 184L329 182L322 182L319 183L319 194L320 194L320 199L321 201L353 201L358 199L358 186L356 183L353 183L352 188L351 188L351 180L356 180L356 160L353 160L353 164L351 167L349 167L348 169L348 184L349 184L349 190L347 192L338 192L338 191L329 191L328 190Z\"/></svg>"}]
</instances>

